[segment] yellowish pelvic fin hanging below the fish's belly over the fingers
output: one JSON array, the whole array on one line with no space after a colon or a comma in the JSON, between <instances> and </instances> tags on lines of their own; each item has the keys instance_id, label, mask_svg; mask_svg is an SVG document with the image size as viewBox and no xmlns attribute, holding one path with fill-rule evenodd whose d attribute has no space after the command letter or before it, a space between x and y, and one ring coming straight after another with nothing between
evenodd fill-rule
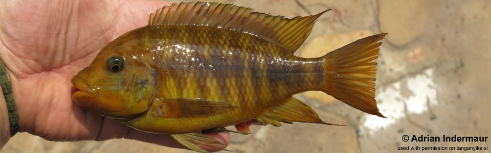
<instances>
[{"instance_id":1,"label":"yellowish pelvic fin hanging below the fish's belly over the fingers","mask_svg":"<svg viewBox=\"0 0 491 153\"><path fill-rule=\"evenodd\" d=\"M221 150L225 150L225 148L220 148L216 145L223 144L220 141L216 140L212 136L199 134L199 133L185 133L185 134L171 134L172 138L174 138L177 142L181 143L185 147L188 147L191 150L197 152L209 152L199 145L205 145Z\"/></svg>"}]
</instances>

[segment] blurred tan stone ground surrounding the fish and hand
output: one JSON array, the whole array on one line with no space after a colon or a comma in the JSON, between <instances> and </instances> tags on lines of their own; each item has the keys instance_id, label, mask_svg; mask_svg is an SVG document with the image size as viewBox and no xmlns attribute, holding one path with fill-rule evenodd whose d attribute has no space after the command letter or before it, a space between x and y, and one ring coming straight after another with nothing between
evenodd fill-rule
<instances>
[{"instance_id":1,"label":"blurred tan stone ground surrounding the fish and hand","mask_svg":"<svg viewBox=\"0 0 491 153\"><path fill-rule=\"evenodd\" d=\"M488 88L491 86L490 1L219 2L286 17L332 9L320 17L313 33L297 52L302 57L322 56L364 36L389 33L377 60L376 82L378 107L388 119L362 113L326 94L308 92L296 97L312 106L323 120L348 126L308 123L254 126L251 135L233 134L228 149L236 152L398 152L399 146L415 145L490 147L489 138L487 142L401 140L403 135L410 138L413 135L491 137L491 103L486 100L491 97ZM50 142L19 133L0 152L192 151L130 140Z\"/></svg>"}]
</instances>

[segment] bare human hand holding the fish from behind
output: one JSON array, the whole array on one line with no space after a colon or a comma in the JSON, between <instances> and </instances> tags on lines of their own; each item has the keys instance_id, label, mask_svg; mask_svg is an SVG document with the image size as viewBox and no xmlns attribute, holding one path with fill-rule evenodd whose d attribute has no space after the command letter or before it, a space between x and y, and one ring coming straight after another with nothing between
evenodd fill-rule
<instances>
[{"instance_id":1,"label":"bare human hand holding the fish from behind","mask_svg":"<svg viewBox=\"0 0 491 153\"><path fill-rule=\"evenodd\" d=\"M47 140L135 139L183 147L98 116L72 101L70 80L105 44L146 25L161 1L0 1L0 58L19 114L19 132ZM211 134L225 147L229 133ZM214 148L206 148L216 151Z\"/></svg>"}]
</instances>

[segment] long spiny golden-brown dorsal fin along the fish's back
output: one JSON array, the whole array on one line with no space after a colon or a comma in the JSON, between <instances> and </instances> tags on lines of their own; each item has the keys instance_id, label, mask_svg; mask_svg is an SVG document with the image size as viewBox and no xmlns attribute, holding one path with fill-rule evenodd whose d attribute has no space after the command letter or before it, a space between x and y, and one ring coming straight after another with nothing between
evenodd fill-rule
<instances>
[{"instance_id":1,"label":"long spiny golden-brown dorsal fin along the fish's back","mask_svg":"<svg viewBox=\"0 0 491 153\"><path fill-rule=\"evenodd\" d=\"M310 34L317 18L327 11L288 19L232 4L182 2L150 14L148 25L208 26L241 31L276 42L293 53Z\"/></svg>"}]
</instances>

